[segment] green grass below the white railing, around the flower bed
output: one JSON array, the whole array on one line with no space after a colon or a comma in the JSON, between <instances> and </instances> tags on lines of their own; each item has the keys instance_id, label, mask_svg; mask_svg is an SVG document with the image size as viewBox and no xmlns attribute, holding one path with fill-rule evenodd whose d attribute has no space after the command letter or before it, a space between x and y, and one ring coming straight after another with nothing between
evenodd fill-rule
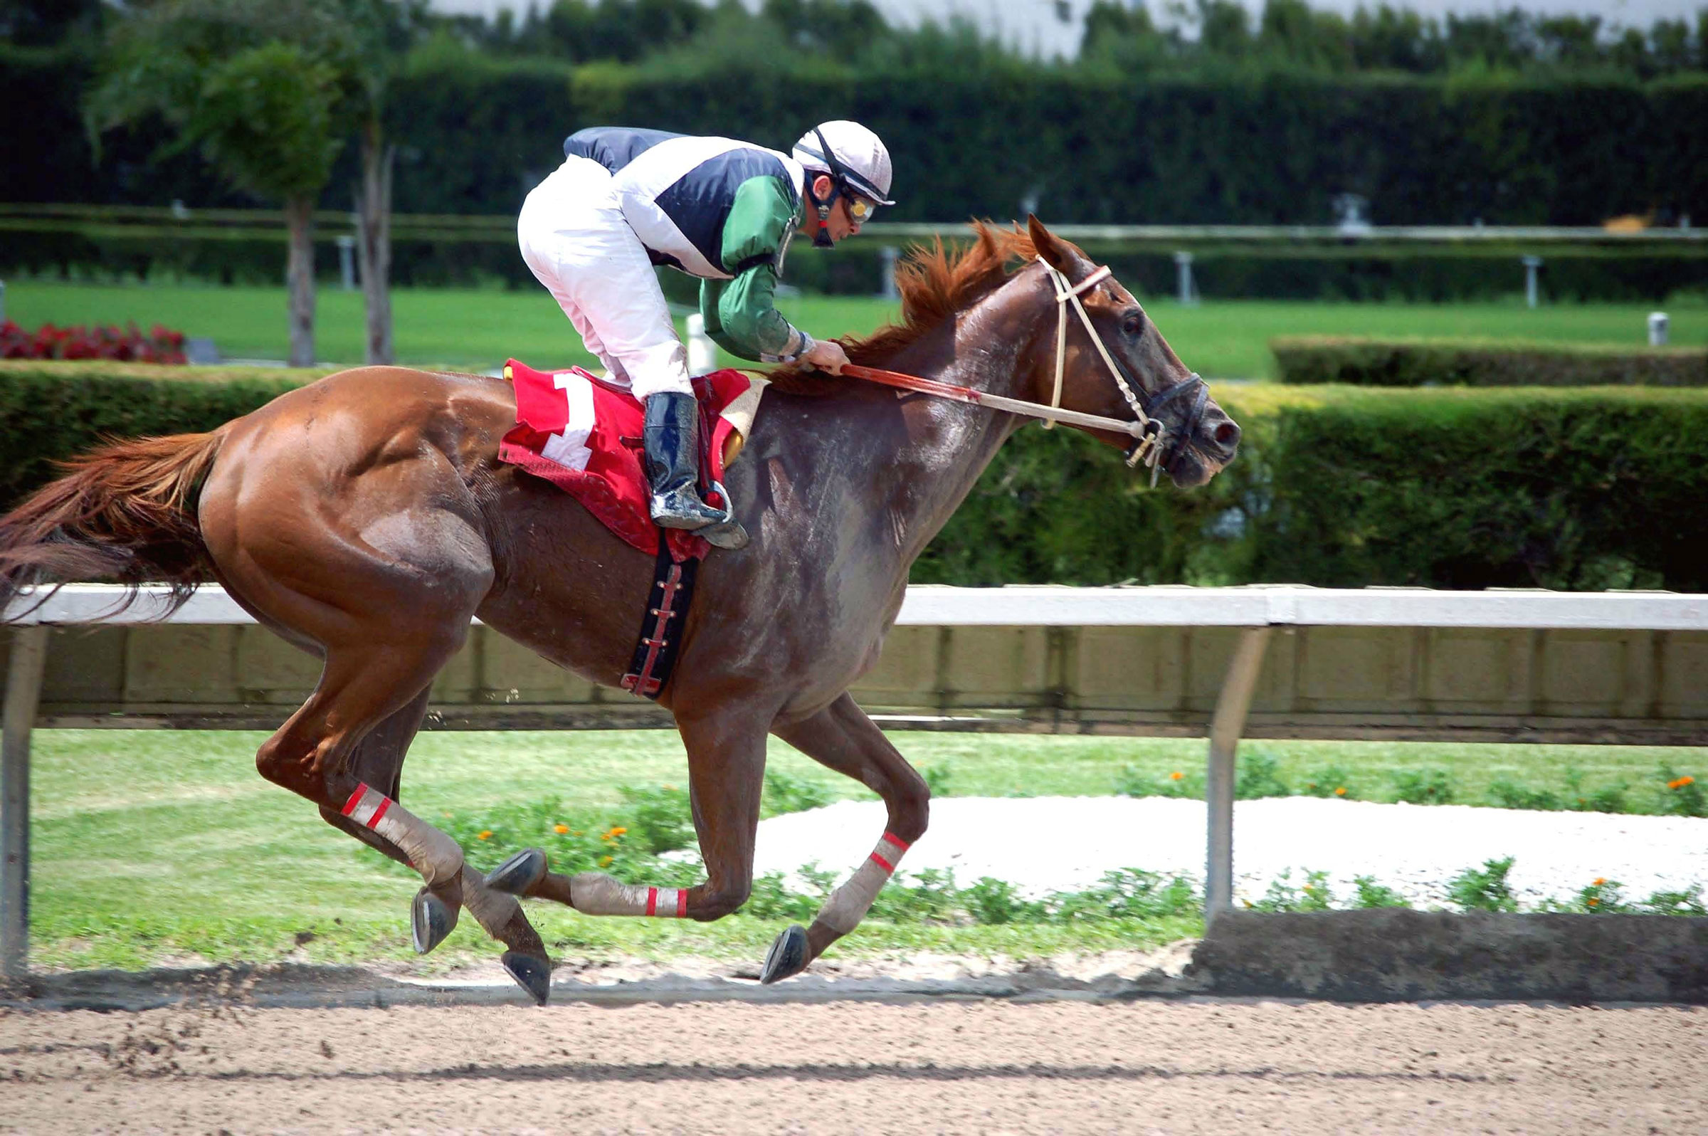
<instances>
[{"instance_id":1,"label":"green grass below the white railing, around the flower bed","mask_svg":"<svg viewBox=\"0 0 1708 1136\"><path fill-rule=\"evenodd\" d=\"M325 825L304 801L253 769L261 733L44 729L34 736L32 958L41 967L143 967L178 960L410 960L407 912L417 881ZM1167 779L1201 774L1197 740L898 733L898 748L951 796L1045 796L1115 791L1131 770ZM1587 786L1626 781L1633 803L1658 794L1657 769L1708 777L1701 750L1262 741L1300 786L1341 765L1354 786L1442 769L1460 803L1483 803L1501 777L1558 786L1566 767ZM820 786L832 799L871 798L859 784L774 741L770 769ZM405 799L429 820L480 817L562 798L596 820L620 808L620 786L683 784L671 731L427 733L405 769ZM1375 793L1360 793L1377 796ZM1647 798L1645 798L1647 799ZM577 822L579 823L579 822ZM477 866L492 856L470 849ZM1144 864L1131 864L1144 868ZM835 866L830 866L835 868ZM847 864L844 868L852 868ZM963 881L970 883L970 881ZM714 924L588 919L531 905L557 953L758 960L781 922L733 916ZM465 921L424 969L492 958ZM946 926L868 921L842 955L892 950L1033 957L1061 950L1136 948L1201 931L1196 919L1095 924Z\"/></svg>"}]
</instances>

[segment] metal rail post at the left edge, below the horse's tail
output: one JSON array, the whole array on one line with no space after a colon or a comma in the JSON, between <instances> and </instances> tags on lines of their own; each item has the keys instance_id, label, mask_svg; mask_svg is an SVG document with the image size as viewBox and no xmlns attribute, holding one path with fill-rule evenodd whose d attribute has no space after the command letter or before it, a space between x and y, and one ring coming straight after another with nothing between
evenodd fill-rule
<instances>
[{"instance_id":1,"label":"metal rail post at the left edge, below the horse's tail","mask_svg":"<svg viewBox=\"0 0 1708 1136\"><path fill-rule=\"evenodd\" d=\"M29 731L41 700L48 629L12 632L0 733L0 975L29 970Z\"/></svg>"}]
</instances>

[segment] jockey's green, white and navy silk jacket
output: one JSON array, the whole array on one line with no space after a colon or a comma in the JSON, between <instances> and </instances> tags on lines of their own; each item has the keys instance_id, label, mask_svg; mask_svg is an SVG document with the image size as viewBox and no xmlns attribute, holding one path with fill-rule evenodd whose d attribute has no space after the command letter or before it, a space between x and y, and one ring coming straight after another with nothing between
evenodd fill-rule
<instances>
[{"instance_id":1,"label":"jockey's green, white and navy silk jacket","mask_svg":"<svg viewBox=\"0 0 1708 1136\"><path fill-rule=\"evenodd\" d=\"M733 138L589 126L564 154L600 162L654 265L700 278L705 331L741 359L789 357L811 340L775 307L789 237L801 224L806 171Z\"/></svg>"}]
</instances>

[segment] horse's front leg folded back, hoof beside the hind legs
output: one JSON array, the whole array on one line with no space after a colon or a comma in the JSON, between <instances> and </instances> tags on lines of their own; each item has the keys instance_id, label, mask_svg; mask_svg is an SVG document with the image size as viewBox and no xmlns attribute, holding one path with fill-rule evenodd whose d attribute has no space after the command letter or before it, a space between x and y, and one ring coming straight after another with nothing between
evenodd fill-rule
<instances>
[{"instance_id":1,"label":"horse's front leg folded back, hoof beside the hind legs","mask_svg":"<svg viewBox=\"0 0 1708 1136\"><path fill-rule=\"evenodd\" d=\"M688 750L693 827L705 861L705 883L659 888L620 883L603 871L565 876L550 870L540 849L524 849L487 875L487 887L552 899L586 916L654 916L721 919L753 890L753 840L765 784L765 723L770 712L753 707L688 717L676 714Z\"/></svg>"}]
</instances>

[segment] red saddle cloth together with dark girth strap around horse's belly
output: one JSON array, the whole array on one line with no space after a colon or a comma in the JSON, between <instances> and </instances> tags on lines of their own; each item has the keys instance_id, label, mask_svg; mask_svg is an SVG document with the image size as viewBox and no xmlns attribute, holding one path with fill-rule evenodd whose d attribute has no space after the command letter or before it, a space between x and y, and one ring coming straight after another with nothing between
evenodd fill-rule
<instances>
[{"instance_id":1,"label":"red saddle cloth together with dark girth strap around horse's belly","mask_svg":"<svg viewBox=\"0 0 1708 1136\"><path fill-rule=\"evenodd\" d=\"M652 589L622 685L634 695L658 699L676 663L699 562L712 545L692 531L652 524L651 489L640 465L646 412L634 395L581 367L535 371L511 359L504 378L516 388L516 425L499 442L499 460L552 482L640 552L656 552ZM700 407L700 495L707 504L729 506L717 490L753 429L767 383L743 371L693 379Z\"/></svg>"}]
</instances>

